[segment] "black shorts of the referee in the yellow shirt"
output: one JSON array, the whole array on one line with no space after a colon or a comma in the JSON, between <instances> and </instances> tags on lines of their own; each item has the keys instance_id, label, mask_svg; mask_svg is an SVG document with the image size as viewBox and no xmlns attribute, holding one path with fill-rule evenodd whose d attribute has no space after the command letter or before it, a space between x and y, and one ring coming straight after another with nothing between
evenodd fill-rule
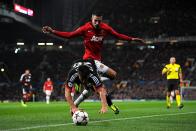
<instances>
[{"instance_id":1,"label":"black shorts of the referee in the yellow shirt","mask_svg":"<svg viewBox=\"0 0 196 131\"><path fill-rule=\"evenodd\" d=\"M179 83L178 79L167 80L167 91L179 90Z\"/></svg>"}]
</instances>

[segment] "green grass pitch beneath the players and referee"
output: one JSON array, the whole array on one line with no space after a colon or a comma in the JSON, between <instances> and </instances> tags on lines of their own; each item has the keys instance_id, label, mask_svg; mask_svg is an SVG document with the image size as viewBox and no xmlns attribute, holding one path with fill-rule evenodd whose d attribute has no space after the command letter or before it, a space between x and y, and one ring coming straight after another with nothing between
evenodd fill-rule
<instances>
[{"instance_id":1,"label":"green grass pitch beneath the players and referee","mask_svg":"<svg viewBox=\"0 0 196 131\"><path fill-rule=\"evenodd\" d=\"M28 131L193 131L196 130L196 101L184 102L182 110L165 108L164 101L115 102L120 114L108 109L99 114L100 102L85 102L87 126L75 126L66 102L0 103L0 130Z\"/></svg>"}]
</instances>

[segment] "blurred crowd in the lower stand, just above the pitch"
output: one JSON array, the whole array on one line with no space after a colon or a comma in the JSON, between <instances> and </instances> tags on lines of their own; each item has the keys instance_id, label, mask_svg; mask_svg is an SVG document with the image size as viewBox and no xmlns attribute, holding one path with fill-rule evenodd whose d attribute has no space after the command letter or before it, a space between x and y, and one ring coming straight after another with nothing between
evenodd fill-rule
<instances>
[{"instance_id":1,"label":"blurred crowd in the lower stand, just above the pitch","mask_svg":"<svg viewBox=\"0 0 196 131\"><path fill-rule=\"evenodd\" d=\"M196 85L194 43L163 43L137 46L127 43L122 46L105 44L103 63L115 69L118 77L113 81L113 99L164 99L166 79L161 70L171 56L182 66L183 78ZM72 63L81 58L82 45L67 45L69 50L34 50L1 52L0 99L20 100L20 75L25 69L32 73L36 100L44 100L43 83L47 77L54 82L53 100L64 100L64 82ZM91 97L97 99L97 96Z\"/></svg>"}]
</instances>

